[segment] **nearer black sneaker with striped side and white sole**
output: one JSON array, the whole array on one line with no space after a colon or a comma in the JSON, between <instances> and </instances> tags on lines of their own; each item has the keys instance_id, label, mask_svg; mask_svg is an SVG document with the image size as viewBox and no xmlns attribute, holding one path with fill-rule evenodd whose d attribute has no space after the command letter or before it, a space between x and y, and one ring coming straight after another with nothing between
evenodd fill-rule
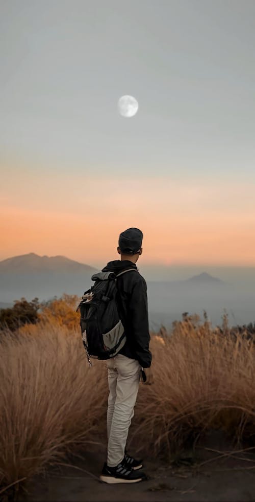
<instances>
[{"instance_id":1,"label":"nearer black sneaker with striped side and white sole","mask_svg":"<svg viewBox=\"0 0 255 502\"><path fill-rule=\"evenodd\" d=\"M100 479L105 483L138 483L147 477L143 472L135 472L132 467L127 467L122 461L116 467L109 467L105 463Z\"/></svg>"}]
</instances>

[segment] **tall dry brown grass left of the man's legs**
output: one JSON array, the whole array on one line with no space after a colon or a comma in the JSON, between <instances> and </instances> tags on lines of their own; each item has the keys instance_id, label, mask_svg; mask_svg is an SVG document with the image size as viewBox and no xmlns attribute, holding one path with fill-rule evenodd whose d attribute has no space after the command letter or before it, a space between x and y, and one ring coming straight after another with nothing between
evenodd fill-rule
<instances>
[{"instance_id":1,"label":"tall dry brown grass left of the man's legs","mask_svg":"<svg viewBox=\"0 0 255 502\"><path fill-rule=\"evenodd\" d=\"M34 328L1 336L2 487L86 447L106 411L106 369L88 366L81 336L47 321Z\"/></svg>"}]
</instances>

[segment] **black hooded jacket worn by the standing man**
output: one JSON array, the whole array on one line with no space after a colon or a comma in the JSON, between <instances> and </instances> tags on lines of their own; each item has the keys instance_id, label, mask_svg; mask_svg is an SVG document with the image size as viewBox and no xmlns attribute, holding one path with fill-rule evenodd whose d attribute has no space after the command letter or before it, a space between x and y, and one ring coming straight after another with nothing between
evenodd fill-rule
<instances>
[{"instance_id":1,"label":"black hooded jacket worn by the standing man","mask_svg":"<svg viewBox=\"0 0 255 502\"><path fill-rule=\"evenodd\" d=\"M112 271L118 274L132 268L138 270L133 261L113 260L109 261L102 272ZM138 271L126 272L117 277L117 290L118 312L126 335L126 343L119 354L136 359L143 368L148 368L151 364L151 352L145 279Z\"/></svg>"}]
</instances>

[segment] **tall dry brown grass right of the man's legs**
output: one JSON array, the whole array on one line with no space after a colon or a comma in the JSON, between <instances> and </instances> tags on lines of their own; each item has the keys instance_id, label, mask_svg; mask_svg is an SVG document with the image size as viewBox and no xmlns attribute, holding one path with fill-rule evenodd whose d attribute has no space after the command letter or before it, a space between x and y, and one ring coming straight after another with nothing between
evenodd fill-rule
<instances>
[{"instance_id":1,"label":"tall dry brown grass right of the man's legs","mask_svg":"<svg viewBox=\"0 0 255 502\"><path fill-rule=\"evenodd\" d=\"M255 433L253 343L242 334L234 341L225 317L223 334L198 321L191 316L174 323L171 337L164 330L152 337L156 384L139 391L132 424L140 449L149 438L155 454L171 455L209 428L223 429L237 444Z\"/></svg>"}]
</instances>

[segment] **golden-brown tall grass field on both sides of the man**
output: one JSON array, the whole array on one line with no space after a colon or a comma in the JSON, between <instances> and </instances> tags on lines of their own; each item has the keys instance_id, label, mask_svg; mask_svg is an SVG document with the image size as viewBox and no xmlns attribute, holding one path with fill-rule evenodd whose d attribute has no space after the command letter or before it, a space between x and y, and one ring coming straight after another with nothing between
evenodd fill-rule
<instances>
[{"instance_id":1,"label":"golden-brown tall grass field on both sides of the man","mask_svg":"<svg viewBox=\"0 0 255 502\"><path fill-rule=\"evenodd\" d=\"M102 361L90 368L81 340L78 297L63 295L37 324L1 333L0 495L67 452L89 449L106 425ZM209 427L236 441L255 433L255 348L231 335L226 318L211 329L194 315L151 333L154 385L140 384L132 439L171 456ZM153 448L153 450L152 450Z\"/></svg>"}]
</instances>

